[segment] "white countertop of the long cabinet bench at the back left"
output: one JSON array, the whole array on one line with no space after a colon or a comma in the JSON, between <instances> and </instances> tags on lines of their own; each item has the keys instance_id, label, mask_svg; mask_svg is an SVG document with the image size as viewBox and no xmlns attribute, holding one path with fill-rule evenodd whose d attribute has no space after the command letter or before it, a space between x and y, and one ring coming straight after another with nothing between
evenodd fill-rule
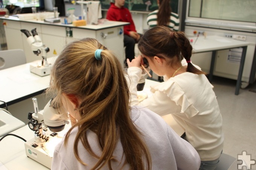
<instances>
[{"instance_id":1,"label":"white countertop of the long cabinet bench at the back left","mask_svg":"<svg viewBox=\"0 0 256 170\"><path fill-rule=\"evenodd\" d=\"M101 30L101 29L106 29L106 28L111 28L111 27L117 27L117 26L125 26L130 23L127 22L119 22L119 21L105 21L103 24L98 24L98 25L91 25L88 24L86 26L73 26L73 24L61 24L61 23L48 23L44 21L39 21L39 20L20 20L18 17L14 16L9 16L7 17L0 17L0 19L3 20L12 20L12 21L23 21L23 22L28 22L28 23L37 23L37 24L47 24L47 25L52 25L52 26L62 26L62 27L74 27L74 28L81 28L81 29L89 29L89 30Z\"/></svg>"}]
</instances>

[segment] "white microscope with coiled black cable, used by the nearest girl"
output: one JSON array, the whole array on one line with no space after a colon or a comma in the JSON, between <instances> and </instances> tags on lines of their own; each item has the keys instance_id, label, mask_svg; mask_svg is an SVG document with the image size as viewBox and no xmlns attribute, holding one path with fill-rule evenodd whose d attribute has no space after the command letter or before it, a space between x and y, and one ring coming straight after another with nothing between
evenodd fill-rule
<instances>
[{"instance_id":1,"label":"white microscope with coiled black cable, used by the nearest girl","mask_svg":"<svg viewBox=\"0 0 256 170\"><path fill-rule=\"evenodd\" d=\"M58 104L53 104L52 99L41 111L38 111L37 99L32 98L32 101L34 112L28 114L28 126L35 135L34 138L25 142L26 155L51 168L55 146L71 127L71 125L65 127L69 121L62 118L62 114L68 113Z\"/></svg>"}]
</instances>

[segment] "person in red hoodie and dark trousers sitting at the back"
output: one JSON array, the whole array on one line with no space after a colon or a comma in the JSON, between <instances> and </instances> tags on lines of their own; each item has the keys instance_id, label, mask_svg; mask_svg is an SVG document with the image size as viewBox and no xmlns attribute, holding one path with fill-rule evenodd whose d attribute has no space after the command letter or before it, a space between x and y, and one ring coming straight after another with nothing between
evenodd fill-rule
<instances>
[{"instance_id":1,"label":"person in red hoodie and dark trousers sitting at the back","mask_svg":"<svg viewBox=\"0 0 256 170\"><path fill-rule=\"evenodd\" d=\"M129 25L124 26L124 46L125 48L125 57L126 59L134 59L134 47L135 44L139 41L141 34L137 33L135 25L133 23L133 18L131 17L130 11L124 7L125 0L115 0L115 3L110 3L111 6L107 12L107 19L110 21L122 21L129 22ZM127 66L125 59L125 66Z\"/></svg>"}]
</instances>

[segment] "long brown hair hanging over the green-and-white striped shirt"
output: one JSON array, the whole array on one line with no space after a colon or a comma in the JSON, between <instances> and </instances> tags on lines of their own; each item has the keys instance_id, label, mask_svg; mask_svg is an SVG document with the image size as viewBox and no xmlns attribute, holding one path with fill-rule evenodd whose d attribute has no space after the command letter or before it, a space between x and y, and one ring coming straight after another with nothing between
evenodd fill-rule
<instances>
[{"instance_id":1,"label":"long brown hair hanging over the green-and-white striped shirt","mask_svg":"<svg viewBox=\"0 0 256 170\"><path fill-rule=\"evenodd\" d=\"M170 23L171 6L169 0L159 0L159 9L157 12L157 25L168 26Z\"/></svg>"}]
</instances>

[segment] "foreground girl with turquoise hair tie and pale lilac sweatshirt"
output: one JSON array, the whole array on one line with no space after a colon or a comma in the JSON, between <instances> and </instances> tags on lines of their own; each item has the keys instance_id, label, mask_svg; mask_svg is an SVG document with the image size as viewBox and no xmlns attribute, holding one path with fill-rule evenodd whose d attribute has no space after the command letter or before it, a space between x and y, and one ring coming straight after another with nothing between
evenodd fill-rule
<instances>
[{"instance_id":1,"label":"foreground girl with turquoise hair tie and pale lilac sweatshirt","mask_svg":"<svg viewBox=\"0 0 256 170\"><path fill-rule=\"evenodd\" d=\"M159 115L130 106L126 77L96 39L71 42L59 54L47 94L66 108L72 127L55 147L52 170L198 170L191 144Z\"/></svg>"}]
</instances>

